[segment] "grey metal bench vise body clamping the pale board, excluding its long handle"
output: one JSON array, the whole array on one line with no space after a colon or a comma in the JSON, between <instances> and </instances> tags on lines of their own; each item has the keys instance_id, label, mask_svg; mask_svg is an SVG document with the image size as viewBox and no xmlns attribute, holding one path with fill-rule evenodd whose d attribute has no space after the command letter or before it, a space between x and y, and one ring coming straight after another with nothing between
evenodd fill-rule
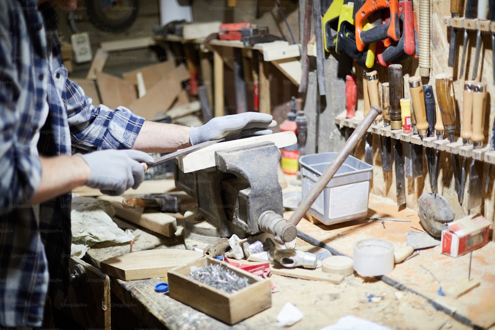
<instances>
[{"instance_id":1,"label":"grey metal bench vise body clamping the pale board, excluding its long handle","mask_svg":"<svg viewBox=\"0 0 495 330\"><path fill-rule=\"evenodd\" d=\"M296 226L283 218L277 167L280 150L273 142L215 151L215 167L175 171L175 185L196 198L196 213L185 218L184 236L240 238L262 232L283 244L296 238ZM187 244L186 244L187 245Z\"/></svg>"}]
</instances>

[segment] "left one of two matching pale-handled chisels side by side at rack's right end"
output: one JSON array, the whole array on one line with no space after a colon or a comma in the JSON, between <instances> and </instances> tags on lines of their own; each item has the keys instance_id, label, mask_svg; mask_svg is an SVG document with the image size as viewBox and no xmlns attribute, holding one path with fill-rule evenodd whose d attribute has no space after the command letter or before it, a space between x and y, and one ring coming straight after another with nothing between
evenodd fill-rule
<instances>
[{"instance_id":1,"label":"left one of two matching pale-handled chisels side by side at rack's right end","mask_svg":"<svg viewBox=\"0 0 495 330\"><path fill-rule=\"evenodd\" d=\"M473 81L464 82L464 92L462 95L462 129L461 138L462 144L471 144L471 134L472 134L472 116L473 116ZM466 183L466 163L467 157L462 157L461 166L461 180L460 180L460 193L459 193L459 203L462 204L462 199L464 197L464 185Z\"/></svg>"}]
</instances>

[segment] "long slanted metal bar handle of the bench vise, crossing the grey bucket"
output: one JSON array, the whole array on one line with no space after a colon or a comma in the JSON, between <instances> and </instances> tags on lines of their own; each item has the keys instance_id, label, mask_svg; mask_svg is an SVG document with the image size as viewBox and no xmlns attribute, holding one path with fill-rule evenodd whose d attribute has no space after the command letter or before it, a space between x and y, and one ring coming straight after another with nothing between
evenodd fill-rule
<instances>
[{"instance_id":1,"label":"long slanted metal bar handle of the bench vise, crossing the grey bucket","mask_svg":"<svg viewBox=\"0 0 495 330\"><path fill-rule=\"evenodd\" d=\"M297 226L302 217L306 214L307 210L313 205L314 201L320 193L325 189L330 180L334 177L335 173L339 170L341 165L346 160L347 156L352 152L352 150L356 147L359 140L366 134L368 128L373 124L375 118L382 113L382 109L379 107L372 105L368 114L364 117L364 119L359 123L356 127L352 135L344 144L342 150L335 156L332 162L328 165L326 170L323 172L321 177L316 181L314 187L309 190L308 194L302 199L301 203L297 207L296 211L292 214L292 216L287 221L294 226Z\"/></svg>"}]
</instances>

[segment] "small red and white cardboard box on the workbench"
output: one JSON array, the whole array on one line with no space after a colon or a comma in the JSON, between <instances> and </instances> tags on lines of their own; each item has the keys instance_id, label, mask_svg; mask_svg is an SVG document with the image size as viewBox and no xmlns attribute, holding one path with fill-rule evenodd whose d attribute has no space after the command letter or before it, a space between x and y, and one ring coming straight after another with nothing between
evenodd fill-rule
<instances>
[{"instance_id":1,"label":"small red and white cardboard box on the workbench","mask_svg":"<svg viewBox=\"0 0 495 330\"><path fill-rule=\"evenodd\" d=\"M442 253L457 257L488 243L490 221L470 215L454 221L442 231Z\"/></svg>"}]
</instances>

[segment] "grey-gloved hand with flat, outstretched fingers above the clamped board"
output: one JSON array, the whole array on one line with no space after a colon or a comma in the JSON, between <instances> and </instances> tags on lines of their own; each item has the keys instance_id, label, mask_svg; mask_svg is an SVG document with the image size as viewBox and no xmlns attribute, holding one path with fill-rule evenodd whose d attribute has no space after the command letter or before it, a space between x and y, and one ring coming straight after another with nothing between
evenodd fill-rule
<instances>
[{"instance_id":1,"label":"grey-gloved hand with flat, outstretched fingers above the clamped board","mask_svg":"<svg viewBox=\"0 0 495 330\"><path fill-rule=\"evenodd\" d=\"M235 140L253 135L271 134L269 127L277 125L272 116L259 112L244 112L215 117L199 127L191 127L189 141L195 145L204 141Z\"/></svg>"}]
</instances>

